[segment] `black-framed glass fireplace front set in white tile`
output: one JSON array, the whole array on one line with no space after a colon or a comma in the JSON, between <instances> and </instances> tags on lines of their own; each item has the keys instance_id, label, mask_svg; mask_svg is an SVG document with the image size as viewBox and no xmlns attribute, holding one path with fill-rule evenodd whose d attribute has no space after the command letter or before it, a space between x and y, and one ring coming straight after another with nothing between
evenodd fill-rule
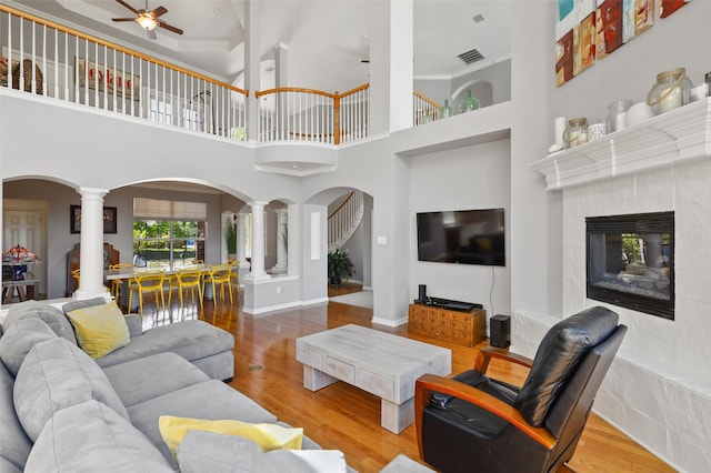
<instances>
[{"instance_id":1,"label":"black-framed glass fireplace front set in white tile","mask_svg":"<svg viewBox=\"0 0 711 473\"><path fill-rule=\"evenodd\" d=\"M674 319L674 213L585 219L588 298Z\"/></svg>"}]
</instances>

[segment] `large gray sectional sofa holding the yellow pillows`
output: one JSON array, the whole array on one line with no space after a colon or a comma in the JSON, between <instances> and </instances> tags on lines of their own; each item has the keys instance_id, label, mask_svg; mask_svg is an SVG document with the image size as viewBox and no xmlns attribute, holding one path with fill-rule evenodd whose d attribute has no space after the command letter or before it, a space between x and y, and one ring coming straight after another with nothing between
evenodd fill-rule
<instances>
[{"instance_id":1,"label":"large gray sectional sofa holding the yellow pillows","mask_svg":"<svg viewBox=\"0 0 711 473\"><path fill-rule=\"evenodd\" d=\"M190 432L173 456L161 415L279 422L222 381L234 370L230 333L201 321L143 332L128 315L130 343L92 360L66 316L92 304L106 301L71 302L63 311L31 301L8 312L0 330L0 473L312 471L288 451L263 453L207 432ZM304 436L302 447L319 445Z\"/></svg>"}]
</instances>

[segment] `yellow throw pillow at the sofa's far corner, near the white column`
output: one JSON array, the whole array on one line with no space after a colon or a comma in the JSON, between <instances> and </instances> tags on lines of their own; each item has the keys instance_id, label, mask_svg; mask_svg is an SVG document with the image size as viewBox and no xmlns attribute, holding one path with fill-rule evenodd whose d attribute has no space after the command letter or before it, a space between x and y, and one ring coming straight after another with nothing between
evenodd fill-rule
<instances>
[{"instance_id":1,"label":"yellow throw pillow at the sofa's far corner, near the white column","mask_svg":"<svg viewBox=\"0 0 711 473\"><path fill-rule=\"evenodd\" d=\"M129 326L116 302L67 313L79 346L92 359L104 356L131 342Z\"/></svg>"}]
</instances>

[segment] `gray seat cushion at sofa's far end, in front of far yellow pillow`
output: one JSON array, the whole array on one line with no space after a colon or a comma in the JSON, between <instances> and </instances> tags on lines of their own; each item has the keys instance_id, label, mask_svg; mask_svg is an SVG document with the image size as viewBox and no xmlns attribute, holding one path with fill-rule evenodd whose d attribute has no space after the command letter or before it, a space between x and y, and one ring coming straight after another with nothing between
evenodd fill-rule
<instances>
[{"instance_id":1,"label":"gray seat cushion at sofa's far end, in front of far yellow pillow","mask_svg":"<svg viewBox=\"0 0 711 473\"><path fill-rule=\"evenodd\" d=\"M156 353L173 352L188 361L212 356L234 348L234 336L201 320L158 326L131 339L131 344L97 359L101 368Z\"/></svg>"}]
</instances>

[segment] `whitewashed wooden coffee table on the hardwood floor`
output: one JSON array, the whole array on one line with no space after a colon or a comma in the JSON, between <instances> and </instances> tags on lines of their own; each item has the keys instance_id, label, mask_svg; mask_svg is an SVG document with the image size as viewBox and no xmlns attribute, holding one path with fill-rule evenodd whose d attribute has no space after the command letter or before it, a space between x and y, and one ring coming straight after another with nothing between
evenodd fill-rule
<instances>
[{"instance_id":1,"label":"whitewashed wooden coffee table on the hardwood floor","mask_svg":"<svg viewBox=\"0 0 711 473\"><path fill-rule=\"evenodd\" d=\"M308 390L341 380L379 396L380 424L397 434L414 422L415 380L452 370L449 349L352 324L297 339L297 360Z\"/></svg>"}]
</instances>

